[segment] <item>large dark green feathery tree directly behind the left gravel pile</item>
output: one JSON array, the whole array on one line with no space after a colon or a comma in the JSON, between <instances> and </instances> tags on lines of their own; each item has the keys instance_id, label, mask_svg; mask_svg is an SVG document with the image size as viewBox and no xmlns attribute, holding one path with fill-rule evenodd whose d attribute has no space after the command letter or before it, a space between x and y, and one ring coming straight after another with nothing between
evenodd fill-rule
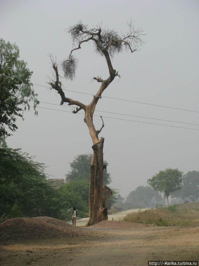
<instances>
[{"instance_id":1,"label":"large dark green feathery tree directly behind the left gravel pile","mask_svg":"<svg viewBox=\"0 0 199 266\"><path fill-rule=\"evenodd\" d=\"M61 203L44 169L20 149L0 147L0 217L60 216Z\"/></svg>"}]
</instances>

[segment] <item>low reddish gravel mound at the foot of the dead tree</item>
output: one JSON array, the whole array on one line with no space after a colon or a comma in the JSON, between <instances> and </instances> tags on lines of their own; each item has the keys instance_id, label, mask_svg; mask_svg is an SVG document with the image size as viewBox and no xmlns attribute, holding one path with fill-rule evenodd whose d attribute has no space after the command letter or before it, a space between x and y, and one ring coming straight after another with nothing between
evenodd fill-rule
<instances>
[{"instance_id":1,"label":"low reddish gravel mound at the foot of the dead tree","mask_svg":"<svg viewBox=\"0 0 199 266\"><path fill-rule=\"evenodd\" d=\"M129 228L129 227L143 227L146 226L142 223L130 223L125 221L102 221L99 223L96 223L92 226L89 226L88 229L93 230L105 230L105 229L121 229L121 228ZM153 225L147 225L147 226L153 226Z\"/></svg>"}]
</instances>

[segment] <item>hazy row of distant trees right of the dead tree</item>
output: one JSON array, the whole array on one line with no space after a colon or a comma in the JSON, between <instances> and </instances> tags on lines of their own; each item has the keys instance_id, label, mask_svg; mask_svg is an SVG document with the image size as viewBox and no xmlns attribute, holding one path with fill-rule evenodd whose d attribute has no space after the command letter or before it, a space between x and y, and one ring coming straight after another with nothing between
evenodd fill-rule
<instances>
[{"instance_id":1,"label":"hazy row of distant trees right of the dead tree","mask_svg":"<svg viewBox=\"0 0 199 266\"><path fill-rule=\"evenodd\" d=\"M169 197L178 202L199 200L199 171L183 174L178 169L168 168L159 171L147 183L150 186L138 186L131 191L124 204L130 203L132 207L139 208L165 204L164 199L169 205Z\"/></svg>"}]
</instances>

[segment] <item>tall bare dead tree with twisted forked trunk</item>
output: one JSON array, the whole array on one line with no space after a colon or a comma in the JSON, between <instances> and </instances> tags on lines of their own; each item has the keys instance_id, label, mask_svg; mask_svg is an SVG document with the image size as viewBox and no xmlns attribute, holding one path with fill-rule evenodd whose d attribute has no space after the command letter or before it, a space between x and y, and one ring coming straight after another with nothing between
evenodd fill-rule
<instances>
[{"instance_id":1,"label":"tall bare dead tree with twisted forked trunk","mask_svg":"<svg viewBox=\"0 0 199 266\"><path fill-rule=\"evenodd\" d=\"M90 169L90 191L89 191L89 215L90 219L87 226L96 224L103 220L108 220L107 201L111 196L111 189L107 186L103 186L103 144L104 138L101 137L99 140L99 133L101 132L104 123L102 119L102 127L99 130L95 129L93 124L93 113L95 111L96 104L101 98L103 91L108 85L114 80L116 76L120 77L118 72L113 68L111 58L115 53L120 53L123 47L126 51L130 50L131 53L136 51L139 46L144 42L141 37L143 34L142 29L135 29L132 22L127 23L129 32L126 35L119 35L114 30L102 29L100 25L94 28L88 28L87 25L83 25L81 21L78 24L70 27L68 33L71 35L73 40L73 49L67 60L62 62L62 68L64 76L67 79L73 80L75 77L75 70L77 67L77 59L73 56L75 50L81 48L81 45L86 42L92 42L97 53L104 56L108 66L108 78L102 79L101 77L93 77L93 80L101 83L98 92L93 95L93 100L89 105L85 105L77 100L67 98L62 90L62 84L59 80L58 66L56 60L50 55L52 67L55 71L55 79L50 80L52 89L55 89L61 97L61 105L68 103L68 105L77 106L73 113L78 113L80 110L85 112L84 122L87 124L91 139L93 141L93 157L91 161Z\"/></svg>"}]
</instances>

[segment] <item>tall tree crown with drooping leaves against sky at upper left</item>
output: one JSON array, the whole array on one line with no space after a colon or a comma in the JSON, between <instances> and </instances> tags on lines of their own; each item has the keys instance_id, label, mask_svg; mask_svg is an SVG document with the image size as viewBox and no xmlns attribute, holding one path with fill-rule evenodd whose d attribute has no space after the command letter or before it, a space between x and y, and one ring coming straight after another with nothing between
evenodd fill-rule
<instances>
[{"instance_id":1,"label":"tall tree crown with drooping leaves against sky at upper left","mask_svg":"<svg viewBox=\"0 0 199 266\"><path fill-rule=\"evenodd\" d=\"M16 131L16 116L23 118L22 105L29 110L29 102L33 101L37 115L39 101L30 83L31 75L27 63L19 60L18 46L0 39L0 137L11 135L6 126Z\"/></svg>"}]
</instances>

